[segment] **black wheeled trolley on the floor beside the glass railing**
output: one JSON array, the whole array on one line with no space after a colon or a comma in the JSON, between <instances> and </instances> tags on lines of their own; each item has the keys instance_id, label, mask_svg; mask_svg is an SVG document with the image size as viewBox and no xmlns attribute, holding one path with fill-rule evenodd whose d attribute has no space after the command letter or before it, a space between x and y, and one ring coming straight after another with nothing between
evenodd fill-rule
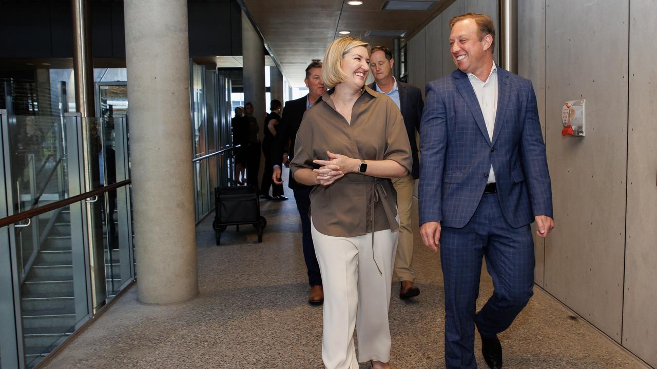
<instances>
[{"instance_id":1,"label":"black wheeled trolley on the floor beside the glass railing","mask_svg":"<svg viewBox=\"0 0 657 369\"><path fill-rule=\"evenodd\" d=\"M258 192L252 186L229 186L215 188L215 215L212 228L219 245L221 232L229 225L253 225L258 230L258 242L262 242L262 232L267 219L260 215Z\"/></svg>"}]
</instances>

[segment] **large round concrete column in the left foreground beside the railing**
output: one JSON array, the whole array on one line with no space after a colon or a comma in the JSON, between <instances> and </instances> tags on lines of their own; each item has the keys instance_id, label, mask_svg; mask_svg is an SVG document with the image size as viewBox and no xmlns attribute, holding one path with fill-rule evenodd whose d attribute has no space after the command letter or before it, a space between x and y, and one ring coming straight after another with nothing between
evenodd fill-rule
<instances>
[{"instance_id":1,"label":"large round concrete column in the left foreground beside the railing","mask_svg":"<svg viewBox=\"0 0 657 369\"><path fill-rule=\"evenodd\" d=\"M139 301L198 294L187 0L125 0Z\"/></svg>"}]
</instances>

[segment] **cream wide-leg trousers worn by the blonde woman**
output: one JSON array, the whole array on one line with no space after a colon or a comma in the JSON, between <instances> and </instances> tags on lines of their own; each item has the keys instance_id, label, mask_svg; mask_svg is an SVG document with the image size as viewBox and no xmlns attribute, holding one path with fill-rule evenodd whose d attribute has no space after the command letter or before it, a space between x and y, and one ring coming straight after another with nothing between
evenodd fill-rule
<instances>
[{"instance_id":1,"label":"cream wide-leg trousers worn by the blonde woman","mask_svg":"<svg viewBox=\"0 0 657 369\"><path fill-rule=\"evenodd\" d=\"M358 369L359 361L388 362L390 285L399 232L379 230L356 237L327 236L315 228L312 219L311 232L324 287L325 366ZM353 345L354 328L358 358Z\"/></svg>"}]
</instances>

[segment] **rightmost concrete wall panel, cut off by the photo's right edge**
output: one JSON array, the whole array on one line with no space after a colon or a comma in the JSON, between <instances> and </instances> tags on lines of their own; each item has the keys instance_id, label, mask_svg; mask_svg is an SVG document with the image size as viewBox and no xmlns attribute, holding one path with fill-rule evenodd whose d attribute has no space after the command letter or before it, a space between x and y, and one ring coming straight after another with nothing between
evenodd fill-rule
<instances>
[{"instance_id":1,"label":"rightmost concrete wall panel, cut off by the photo's right edge","mask_svg":"<svg viewBox=\"0 0 657 369\"><path fill-rule=\"evenodd\" d=\"M657 3L629 2L623 345L657 367Z\"/></svg>"}]
</instances>

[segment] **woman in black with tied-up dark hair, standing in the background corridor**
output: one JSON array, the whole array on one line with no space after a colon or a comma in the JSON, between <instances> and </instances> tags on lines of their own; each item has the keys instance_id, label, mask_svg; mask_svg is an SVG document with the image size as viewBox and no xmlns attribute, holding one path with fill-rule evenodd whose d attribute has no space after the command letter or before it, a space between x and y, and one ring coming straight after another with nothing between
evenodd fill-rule
<instances>
[{"instance_id":1,"label":"woman in black with tied-up dark hair, standing in the background corridor","mask_svg":"<svg viewBox=\"0 0 657 369\"><path fill-rule=\"evenodd\" d=\"M265 118L265 139L262 141L262 153L265 156L265 173L262 175L260 186L261 197L271 200L287 200L283 196L283 185L276 185L271 181L275 158L271 157L271 145L276 138L276 125L281 121L281 110L283 104L279 100L271 100L269 107L271 113ZM271 187L271 196L269 196L269 187Z\"/></svg>"}]
</instances>

